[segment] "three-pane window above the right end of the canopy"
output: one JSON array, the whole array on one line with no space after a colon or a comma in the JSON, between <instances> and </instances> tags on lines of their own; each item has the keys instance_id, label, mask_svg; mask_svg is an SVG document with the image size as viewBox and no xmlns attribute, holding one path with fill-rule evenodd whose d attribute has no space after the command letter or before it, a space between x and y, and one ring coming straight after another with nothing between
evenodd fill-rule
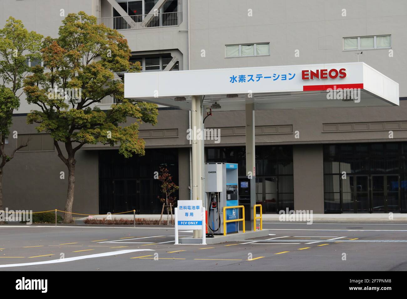
<instances>
[{"instance_id":1,"label":"three-pane window above the right end of the canopy","mask_svg":"<svg viewBox=\"0 0 407 299\"><path fill-rule=\"evenodd\" d=\"M391 47L391 35L344 37L344 50L370 50Z\"/></svg>"}]
</instances>

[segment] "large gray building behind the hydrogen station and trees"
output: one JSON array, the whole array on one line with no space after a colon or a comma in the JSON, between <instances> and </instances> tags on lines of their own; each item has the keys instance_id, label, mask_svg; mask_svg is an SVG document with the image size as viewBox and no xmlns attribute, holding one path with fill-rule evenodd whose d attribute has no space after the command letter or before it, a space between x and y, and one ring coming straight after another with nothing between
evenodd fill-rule
<instances>
[{"instance_id":1,"label":"large gray building behind the hydrogen station and trees","mask_svg":"<svg viewBox=\"0 0 407 299\"><path fill-rule=\"evenodd\" d=\"M3 0L0 8L0 26L11 15L52 37L61 10L95 15L125 36L131 60L140 61L143 72L367 63L400 84L400 106L257 110L251 188L267 213L407 212L407 2ZM114 101L107 97L99 106L107 109ZM26 124L34 108L22 98L13 117L18 140L31 137L4 168L4 207L61 209L68 183L60 172L66 166L49 135ZM220 143L206 142L206 162L238 163L240 179L244 113L213 110L205 122L221 130ZM178 198L189 199L189 127L189 111L160 107L156 126L140 126L145 156L125 159L117 147L84 146L77 153L74 212L160 213L160 183L153 176L164 165L179 185ZM6 148L18 140L10 135Z\"/></svg>"}]
</instances>

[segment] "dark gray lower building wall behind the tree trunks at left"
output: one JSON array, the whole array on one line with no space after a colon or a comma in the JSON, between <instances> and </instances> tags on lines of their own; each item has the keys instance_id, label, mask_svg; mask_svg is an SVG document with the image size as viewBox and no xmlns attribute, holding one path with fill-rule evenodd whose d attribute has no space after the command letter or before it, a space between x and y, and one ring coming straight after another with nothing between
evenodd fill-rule
<instances>
[{"instance_id":1,"label":"dark gray lower building wall behind the tree trunks at left","mask_svg":"<svg viewBox=\"0 0 407 299\"><path fill-rule=\"evenodd\" d=\"M36 133L34 125L26 125L25 116L13 118L11 132ZM5 150L10 153L16 140L10 135ZM63 146L61 145L61 148ZM78 151L76 154L75 200L73 212L98 213L98 153ZM60 179L60 172L65 179ZM4 166L4 208L44 211L64 210L68 189L68 168L57 151L22 151Z\"/></svg>"}]
</instances>

